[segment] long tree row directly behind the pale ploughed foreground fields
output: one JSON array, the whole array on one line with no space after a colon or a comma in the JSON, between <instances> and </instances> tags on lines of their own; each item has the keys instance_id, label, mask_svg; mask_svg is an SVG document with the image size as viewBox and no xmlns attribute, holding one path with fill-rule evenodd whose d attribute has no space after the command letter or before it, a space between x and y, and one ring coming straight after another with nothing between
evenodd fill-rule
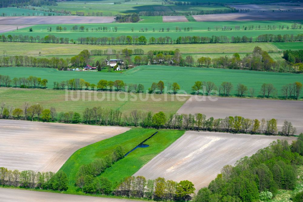
<instances>
[{"instance_id":1,"label":"long tree row directly behind the pale ploughed foreground fields","mask_svg":"<svg viewBox=\"0 0 303 202\"><path fill-rule=\"evenodd\" d=\"M224 119L207 118L204 114L174 114L166 115L163 112L152 113L133 110L130 113L122 113L119 109L108 109L103 107L85 108L80 113L69 111L57 113L54 107L43 109L40 104L29 105L25 103L23 108L14 108L1 105L0 118L58 121L62 123L79 123L110 126L142 126L145 128L166 128L179 130L206 130L224 131L232 133L261 133L281 134L291 136L296 133L291 122L284 121L281 131L278 132L277 120L258 119L251 120L241 116L227 116Z\"/></svg>"}]
</instances>

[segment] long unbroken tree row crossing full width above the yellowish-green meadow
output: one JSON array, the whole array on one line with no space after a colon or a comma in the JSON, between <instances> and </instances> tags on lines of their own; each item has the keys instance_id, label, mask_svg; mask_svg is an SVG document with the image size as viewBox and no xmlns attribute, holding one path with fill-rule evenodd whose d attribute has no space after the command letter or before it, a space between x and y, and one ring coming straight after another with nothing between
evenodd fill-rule
<instances>
[{"instance_id":1,"label":"long unbroken tree row crossing full width above the yellowish-green meadow","mask_svg":"<svg viewBox=\"0 0 303 202\"><path fill-rule=\"evenodd\" d=\"M60 28L59 28L60 29ZM164 29L163 29L164 30ZM188 28L189 30L189 28ZM169 31L169 30L168 30ZM78 37L77 40L56 37L55 35L40 36L28 36L28 35L7 35L0 36L2 42L40 42L40 43L78 43L78 44L90 44L90 45L117 45L117 44L200 44L200 43L245 43L245 42L302 42L303 34L298 35L274 35L274 34L262 34L255 39L247 36L179 36L176 39L172 39L170 36L165 37L150 37L147 39L145 36L117 36L117 37Z\"/></svg>"}]
</instances>

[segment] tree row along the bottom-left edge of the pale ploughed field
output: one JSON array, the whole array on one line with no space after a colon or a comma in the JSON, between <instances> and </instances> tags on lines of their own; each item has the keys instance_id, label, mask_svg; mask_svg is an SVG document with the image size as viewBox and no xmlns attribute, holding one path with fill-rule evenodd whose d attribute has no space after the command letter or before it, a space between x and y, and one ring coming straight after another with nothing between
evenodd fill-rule
<instances>
[{"instance_id":1,"label":"tree row along the bottom-left edge of the pale ploughed field","mask_svg":"<svg viewBox=\"0 0 303 202\"><path fill-rule=\"evenodd\" d=\"M64 191L68 189L68 179L66 173L59 170L53 172L36 172L34 170L8 170L0 167L0 184L32 188Z\"/></svg>"}]
</instances>

